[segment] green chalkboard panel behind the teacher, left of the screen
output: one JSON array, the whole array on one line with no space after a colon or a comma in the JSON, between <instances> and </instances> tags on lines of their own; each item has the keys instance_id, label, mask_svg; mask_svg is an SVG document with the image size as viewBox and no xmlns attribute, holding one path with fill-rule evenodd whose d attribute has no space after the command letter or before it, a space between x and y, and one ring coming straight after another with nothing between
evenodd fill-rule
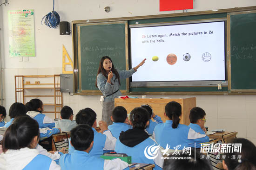
<instances>
[{"instance_id":1,"label":"green chalkboard panel behind the teacher, left of the screen","mask_svg":"<svg viewBox=\"0 0 256 170\"><path fill-rule=\"evenodd\" d=\"M126 69L127 22L77 25L77 53L79 92L95 91L95 81L101 57L112 59L115 69ZM126 90L126 80L121 80L121 90Z\"/></svg>"}]
</instances>

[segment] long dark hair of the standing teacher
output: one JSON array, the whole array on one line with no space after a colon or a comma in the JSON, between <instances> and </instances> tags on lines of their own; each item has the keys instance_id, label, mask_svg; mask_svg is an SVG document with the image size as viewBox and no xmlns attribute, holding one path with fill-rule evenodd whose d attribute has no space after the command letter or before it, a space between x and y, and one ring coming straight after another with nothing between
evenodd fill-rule
<instances>
[{"instance_id":1,"label":"long dark hair of the standing teacher","mask_svg":"<svg viewBox=\"0 0 256 170\"><path fill-rule=\"evenodd\" d=\"M113 74L115 74L115 80L118 79L119 85L121 85L120 76L119 76L117 70L115 69L115 66L114 66L111 58L108 57L108 56L101 57L101 61L100 61L99 69L98 69L98 72L97 72L97 76L101 73L104 77L106 77L106 79L108 79L107 71L103 68L103 62L104 62L105 59L109 59L111 61L111 63L112 63L111 71L113 72ZM97 78L96 78L95 86L96 86L96 88L98 87L97 86Z\"/></svg>"}]
</instances>

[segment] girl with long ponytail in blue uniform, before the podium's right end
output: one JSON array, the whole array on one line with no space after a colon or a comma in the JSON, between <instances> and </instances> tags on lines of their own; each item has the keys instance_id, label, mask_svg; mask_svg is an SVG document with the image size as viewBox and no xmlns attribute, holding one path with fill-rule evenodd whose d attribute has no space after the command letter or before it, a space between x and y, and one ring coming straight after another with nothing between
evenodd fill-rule
<instances>
[{"instance_id":1,"label":"girl with long ponytail in blue uniform, before the podium's right end","mask_svg":"<svg viewBox=\"0 0 256 170\"><path fill-rule=\"evenodd\" d=\"M182 106L176 101L171 101L165 106L164 115L168 117L165 123L155 126L153 138L163 148L182 150L194 146L194 140L206 137L205 134L195 132L187 125L180 124Z\"/></svg>"}]
</instances>

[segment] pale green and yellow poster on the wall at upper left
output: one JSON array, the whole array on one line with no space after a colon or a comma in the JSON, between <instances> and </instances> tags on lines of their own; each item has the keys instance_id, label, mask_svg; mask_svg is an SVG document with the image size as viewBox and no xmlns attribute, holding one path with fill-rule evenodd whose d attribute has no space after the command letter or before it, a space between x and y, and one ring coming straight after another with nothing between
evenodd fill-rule
<instances>
[{"instance_id":1,"label":"pale green and yellow poster on the wall at upper left","mask_svg":"<svg viewBox=\"0 0 256 170\"><path fill-rule=\"evenodd\" d=\"M34 9L8 11L9 56L34 57Z\"/></svg>"}]
</instances>

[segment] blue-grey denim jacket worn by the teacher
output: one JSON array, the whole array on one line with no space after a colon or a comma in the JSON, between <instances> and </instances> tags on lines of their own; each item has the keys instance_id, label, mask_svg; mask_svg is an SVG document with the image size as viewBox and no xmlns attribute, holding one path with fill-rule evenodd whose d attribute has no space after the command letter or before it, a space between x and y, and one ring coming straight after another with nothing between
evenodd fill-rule
<instances>
[{"instance_id":1,"label":"blue-grey denim jacket worn by the teacher","mask_svg":"<svg viewBox=\"0 0 256 170\"><path fill-rule=\"evenodd\" d=\"M135 73L135 70L134 69L130 69L130 70L117 69L117 72L121 80L121 79L125 79L132 76ZM107 78L103 76L101 73L98 74L97 86L101 90L103 96L105 97L104 102L114 101L115 98L118 98L118 96L122 95L120 90L118 90L120 88L120 85L119 85L118 79L115 80L115 74L113 74L113 77L111 78L111 83L112 84L108 83ZM112 94L116 90L118 90L118 92L116 92L115 94ZM112 94L112 95L106 97L108 94Z\"/></svg>"}]
</instances>

